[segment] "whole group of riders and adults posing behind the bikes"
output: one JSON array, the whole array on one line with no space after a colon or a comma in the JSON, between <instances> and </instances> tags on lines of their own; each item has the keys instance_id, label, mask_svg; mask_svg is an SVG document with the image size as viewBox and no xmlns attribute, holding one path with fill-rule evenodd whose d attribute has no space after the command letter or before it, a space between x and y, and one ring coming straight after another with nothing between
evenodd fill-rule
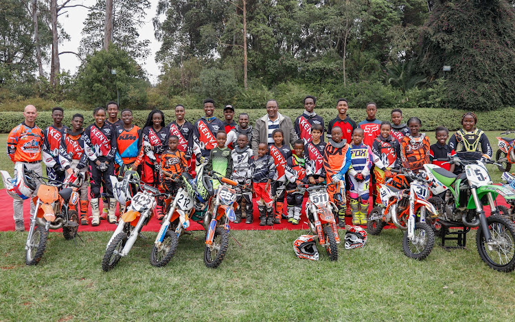
<instances>
[{"instance_id":1,"label":"whole group of riders and adults posing behind the bikes","mask_svg":"<svg viewBox=\"0 0 515 322\"><path fill-rule=\"evenodd\" d=\"M463 115L463 128L448 142L448 129L436 128L437 143L431 145L420 133L420 119L411 117L403 124L400 109L391 111L391 122L380 122L376 119L378 107L370 102L367 117L356 124L347 115L347 100L341 98L336 102L338 114L326 128L315 112L316 102L314 96L306 96L304 113L292 122L279 113L277 101L269 100L266 115L257 119L255 126L249 124L247 113L238 115L238 124L233 122L235 110L231 105L223 110L224 120L218 119L214 116L215 102L209 98L203 101L205 115L194 124L186 121L185 107L177 105L173 122L167 125L163 112L153 110L143 128L133 124L129 109L122 110L119 119L116 102L95 108L95 122L85 129L83 115L73 115L68 128L62 124L64 111L55 107L54 124L44 131L36 126L36 107L29 105L23 112L25 121L8 137L8 155L14 163L23 163L40 175L43 161L50 180L63 181L72 172L89 177L80 189L78 210L81 225L89 225L91 205L93 226L100 225L102 218L109 223L117 221L117 202L109 176L121 176L127 170L138 172L144 183L173 193L179 188L172 180L173 174L194 174L195 165L205 163L207 172L214 170L252 188L252 192L237 190L236 222L242 218L247 224L253 222L255 194L260 225L269 226L282 220L299 223L303 196L286 196L286 191L299 184L325 184L343 227L346 215L352 216L353 225L367 223L369 203L380 203L376 191L392 176L392 169L418 172L425 163L437 163L459 171L444 161L456 153L469 159L492 157L488 138L475 126L474 113ZM23 231L23 200L15 199L13 207L16 231ZM122 213L124 205L119 210ZM31 214L33 211L31 203ZM162 198L157 200L155 213L159 220L164 217Z\"/></svg>"}]
</instances>

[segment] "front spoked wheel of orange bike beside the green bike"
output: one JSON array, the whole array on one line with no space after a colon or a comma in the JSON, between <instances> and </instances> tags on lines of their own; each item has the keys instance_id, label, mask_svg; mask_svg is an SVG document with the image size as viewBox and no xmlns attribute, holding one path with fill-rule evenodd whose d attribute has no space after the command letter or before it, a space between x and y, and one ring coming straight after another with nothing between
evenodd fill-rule
<instances>
[{"instance_id":1,"label":"front spoked wheel of orange bike beside the green bike","mask_svg":"<svg viewBox=\"0 0 515 322\"><path fill-rule=\"evenodd\" d=\"M402 250L415 260L424 260L435 246L435 232L425 222L415 222L415 237L409 240L408 231L404 231Z\"/></svg>"}]
</instances>

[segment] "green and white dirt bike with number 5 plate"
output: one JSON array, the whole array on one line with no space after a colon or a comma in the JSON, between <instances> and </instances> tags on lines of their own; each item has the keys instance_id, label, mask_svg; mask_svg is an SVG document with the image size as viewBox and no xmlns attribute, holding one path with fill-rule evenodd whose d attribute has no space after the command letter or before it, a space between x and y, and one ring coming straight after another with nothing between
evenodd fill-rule
<instances>
[{"instance_id":1,"label":"green and white dirt bike with number 5 plate","mask_svg":"<svg viewBox=\"0 0 515 322\"><path fill-rule=\"evenodd\" d=\"M438 165L424 165L429 179L435 183L431 186L435 196L429 201L439 209L438 220L443 227L478 227L476 244L481 260L496 271L513 271L515 225L505 218L507 209L497 206L495 198L500 194L506 200L513 200L515 194L501 185L492 185L484 164L495 164L492 161L466 161L455 157L449 163L463 165L464 172L456 175ZM483 205L490 205L488 218Z\"/></svg>"}]
</instances>

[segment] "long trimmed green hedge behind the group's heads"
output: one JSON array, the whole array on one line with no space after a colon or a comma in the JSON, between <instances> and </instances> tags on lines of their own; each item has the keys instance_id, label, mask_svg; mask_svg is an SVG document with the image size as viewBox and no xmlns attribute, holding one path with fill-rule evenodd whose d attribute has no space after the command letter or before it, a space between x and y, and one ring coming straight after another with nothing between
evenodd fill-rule
<instances>
[{"instance_id":1,"label":"long trimmed green hedge behind the group's heads","mask_svg":"<svg viewBox=\"0 0 515 322\"><path fill-rule=\"evenodd\" d=\"M295 118L299 116L304 110L302 108L279 108L279 113L287 115L295 121ZM321 117L323 117L325 124L328 124L331 119L336 117L336 108L317 108L315 110ZM238 113L242 112L237 108L236 121L238 119ZM255 124L255 120L265 115L266 111L264 108L259 110L247 110L249 114L251 124ZM402 110L404 122L407 122L409 117L416 116L422 120L422 130L433 131L437 126L446 126L449 130L457 130L460 128L461 115L466 111L453 110L450 108L404 108ZM93 123L92 111L71 111L65 110L65 119L63 123L68 125L71 124L71 116L75 113L81 113L84 115L84 127ZM149 111L133 111L134 123L138 126L143 126ZM165 110L165 122L166 124L172 122L175 119L173 110ZM363 109L350 108L349 115L356 122L360 122L365 119L367 114ZM43 111L38 113L36 124L40 128L46 128L51 125L52 113L49 111ZM186 119L190 122L195 122L204 115L204 111L201 109L188 109L186 111ZM215 115L222 118L221 109L217 109ZM510 130L515 128L515 118L510 116L515 115L515 108L508 107L502 108L498 111L489 112L477 112L477 118L479 119L478 127L481 130ZM380 108L377 113L377 118L380 120L390 121L390 110ZM12 128L23 122L22 112L0 112L0 133L9 133Z\"/></svg>"}]
</instances>

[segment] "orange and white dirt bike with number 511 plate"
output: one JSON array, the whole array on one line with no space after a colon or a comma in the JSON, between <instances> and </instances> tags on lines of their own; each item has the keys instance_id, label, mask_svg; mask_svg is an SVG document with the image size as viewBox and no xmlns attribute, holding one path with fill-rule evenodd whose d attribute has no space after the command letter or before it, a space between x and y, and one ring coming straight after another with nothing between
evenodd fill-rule
<instances>
[{"instance_id":1,"label":"orange and white dirt bike with number 511 plate","mask_svg":"<svg viewBox=\"0 0 515 322\"><path fill-rule=\"evenodd\" d=\"M329 185L333 185L330 183ZM345 184L345 183L342 183ZM320 246L325 247L330 260L338 260L338 244L340 237L336 228L336 205L330 202L327 187L329 185L302 185L297 189L288 190L287 194L309 193L306 203L306 216L313 235L317 236Z\"/></svg>"}]
</instances>

